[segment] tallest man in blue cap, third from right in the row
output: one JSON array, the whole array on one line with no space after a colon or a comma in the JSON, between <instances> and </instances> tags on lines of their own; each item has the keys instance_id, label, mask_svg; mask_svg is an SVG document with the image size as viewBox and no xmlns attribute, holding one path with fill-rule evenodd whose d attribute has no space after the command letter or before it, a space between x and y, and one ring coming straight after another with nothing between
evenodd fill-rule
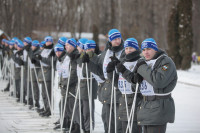
<instances>
[{"instance_id":1,"label":"tallest man in blue cap, third from right in the row","mask_svg":"<svg viewBox=\"0 0 200 133\"><path fill-rule=\"evenodd\" d=\"M114 107L113 103L114 100L111 100L111 92L112 92L112 80L108 78L108 71L113 71L113 64L116 65L114 60L111 60L115 58L122 58L124 54L124 46L123 46L123 40L121 37L121 33L117 29L111 29L108 33L109 35L109 42L108 42L108 49L104 52L102 52L99 56L95 56L94 58L97 58L96 60L90 59L88 54L85 54L83 57L83 62L88 63L88 69L96 75L98 75L101 79L104 80L104 83L101 84L101 89L98 89L98 98L103 104L102 108L102 120L104 123L104 130L106 133L109 131L109 125L110 125L110 132L116 133L121 132L121 124L120 121L117 119L116 123L116 131L115 131L115 117L114 117ZM93 61L92 61L93 60ZM109 69L109 70L108 70ZM118 107L119 107L119 98L121 96L121 93L119 90L116 90L116 112L118 113ZM112 101L112 103L111 103ZM112 108L111 113L111 124L109 124L109 118L110 118L110 108Z\"/></svg>"}]
</instances>

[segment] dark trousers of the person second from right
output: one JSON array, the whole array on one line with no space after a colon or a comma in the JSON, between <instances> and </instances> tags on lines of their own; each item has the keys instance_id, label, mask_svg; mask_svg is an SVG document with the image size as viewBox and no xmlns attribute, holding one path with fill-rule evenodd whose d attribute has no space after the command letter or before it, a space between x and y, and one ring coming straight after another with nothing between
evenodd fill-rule
<instances>
[{"instance_id":1,"label":"dark trousers of the person second from right","mask_svg":"<svg viewBox=\"0 0 200 133\"><path fill-rule=\"evenodd\" d=\"M122 123L122 133L126 133L128 121L122 121L121 123ZM128 130L127 133L130 133L130 131ZM139 126L136 121L133 122L131 133L142 133L142 127Z\"/></svg>"}]
</instances>

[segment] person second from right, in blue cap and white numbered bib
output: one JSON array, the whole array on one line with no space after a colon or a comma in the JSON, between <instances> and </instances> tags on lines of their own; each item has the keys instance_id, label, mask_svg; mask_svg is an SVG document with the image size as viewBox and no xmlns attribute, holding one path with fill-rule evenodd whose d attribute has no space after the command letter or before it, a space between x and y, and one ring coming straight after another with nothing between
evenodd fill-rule
<instances>
[{"instance_id":1,"label":"person second from right, in blue cap and white numbered bib","mask_svg":"<svg viewBox=\"0 0 200 133\"><path fill-rule=\"evenodd\" d=\"M138 42L135 38L128 38L124 42L124 48L125 48L125 57L121 59L120 63L117 64L117 72L116 74L117 78L117 88L122 93L122 97L120 98L119 103L119 115L118 119L121 121L122 124L122 133L125 133L127 130L128 125L128 119L131 116L131 109L133 104L133 99L135 96L135 84L131 84L126 80L127 75L129 75L138 59L140 59L140 49L138 46ZM136 107L138 105L138 102L141 100L142 96L140 93L137 92L136 94ZM131 124L131 123L129 123ZM136 118L136 110L134 112L134 121L132 125L129 126L129 133L142 133L141 126L138 126L137 124L137 118ZM132 126L132 129L130 128ZM130 131L131 129L131 131Z\"/></svg>"}]
</instances>

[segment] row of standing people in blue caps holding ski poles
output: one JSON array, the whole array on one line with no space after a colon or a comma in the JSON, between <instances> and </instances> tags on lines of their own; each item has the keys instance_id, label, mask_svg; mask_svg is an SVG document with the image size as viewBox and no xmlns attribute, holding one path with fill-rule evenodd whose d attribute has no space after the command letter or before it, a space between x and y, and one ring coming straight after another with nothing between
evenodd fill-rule
<instances>
[{"instance_id":1,"label":"row of standing people in blue caps holding ski poles","mask_svg":"<svg viewBox=\"0 0 200 133\"><path fill-rule=\"evenodd\" d=\"M99 55L95 54L96 43L85 38L76 41L63 37L53 46L53 38L47 36L43 50L35 50L35 41L30 38L25 38L24 44L20 40L14 42L18 51L13 54L13 60L18 65L26 64L25 60L16 59L21 45L25 45L22 55L28 55L30 64L39 68L38 80L42 84L46 109L41 116L51 114L50 98L48 103L51 67L58 71L62 98L60 120L55 129L70 130L70 123L73 123L72 132L80 132L80 127L84 132L91 132L97 95L103 105L101 116L106 133L164 133L167 123L174 122L175 105L171 92L177 82L176 67L154 39L145 39L140 49L136 39L123 41L121 33L111 29L107 48ZM26 48L29 44L31 48ZM72 117L74 107L76 115Z\"/></svg>"}]
</instances>

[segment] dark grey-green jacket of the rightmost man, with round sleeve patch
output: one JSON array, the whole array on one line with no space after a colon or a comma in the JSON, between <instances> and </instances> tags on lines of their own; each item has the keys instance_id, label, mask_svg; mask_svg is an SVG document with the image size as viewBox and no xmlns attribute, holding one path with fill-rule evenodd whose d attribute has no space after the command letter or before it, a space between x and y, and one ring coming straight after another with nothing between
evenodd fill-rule
<instances>
[{"instance_id":1,"label":"dark grey-green jacket of the rightmost man, with round sleeve patch","mask_svg":"<svg viewBox=\"0 0 200 133\"><path fill-rule=\"evenodd\" d=\"M160 57L161 55L165 55ZM176 66L172 59L162 50L159 50L153 59L160 57L154 64L153 70L147 64L138 68L138 73L149 82L155 93L164 94L171 92L177 83ZM137 120L139 125L162 125L173 123L175 118L175 105L172 97L142 100L138 109Z\"/></svg>"}]
</instances>

